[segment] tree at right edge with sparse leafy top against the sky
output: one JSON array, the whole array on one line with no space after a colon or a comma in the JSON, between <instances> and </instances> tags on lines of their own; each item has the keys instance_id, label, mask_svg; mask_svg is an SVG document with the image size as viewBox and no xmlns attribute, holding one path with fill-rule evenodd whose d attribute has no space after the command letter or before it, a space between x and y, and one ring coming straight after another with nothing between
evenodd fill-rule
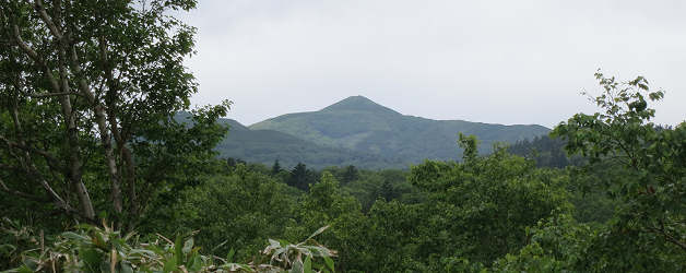
<instances>
[{"instance_id":1,"label":"tree at right edge with sparse leafy top against the sky","mask_svg":"<svg viewBox=\"0 0 686 273\"><path fill-rule=\"evenodd\" d=\"M560 122L553 135L567 141L568 153L587 156L587 168L602 165L626 173L608 178L605 185L605 191L620 201L608 237L630 237L639 242L632 246L640 248L637 252L659 249L664 261L681 249L683 261L686 122L673 129L650 122L655 110L648 103L661 99L664 92L651 90L643 76L619 82L599 71L595 78L603 93L593 100L603 111L577 114ZM626 260L627 266L641 262L635 258Z\"/></svg>"}]
</instances>

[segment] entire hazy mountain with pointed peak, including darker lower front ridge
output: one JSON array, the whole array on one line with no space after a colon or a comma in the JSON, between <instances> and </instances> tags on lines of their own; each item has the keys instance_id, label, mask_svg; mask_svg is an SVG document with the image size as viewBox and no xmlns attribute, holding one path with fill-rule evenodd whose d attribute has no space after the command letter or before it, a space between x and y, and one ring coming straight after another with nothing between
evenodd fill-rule
<instances>
[{"instance_id":1,"label":"entire hazy mountain with pointed peak, including darker lower front ridge","mask_svg":"<svg viewBox=\"0 0 686 273\"><path fill-rule=\"evenodd\" d=\"M545 134L536 124L488 124L431 120L402 115L363 96L352 96L311 112L286 114L250 127L230 126L217 146L222 156L284 166L356 165L362 168L407 167L424 159L459 159L458 133L474 134L480 151L496 142L514 143Z\"/></svg>"}]
</instances>

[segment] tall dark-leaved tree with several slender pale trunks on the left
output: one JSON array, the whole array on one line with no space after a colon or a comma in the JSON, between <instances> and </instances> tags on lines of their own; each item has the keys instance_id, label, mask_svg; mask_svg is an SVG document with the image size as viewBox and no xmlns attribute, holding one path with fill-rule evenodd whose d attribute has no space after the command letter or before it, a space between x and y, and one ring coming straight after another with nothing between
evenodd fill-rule
<instances>
[{"instance_id":1,"label":"tall dark-leaved tree with several slender pale trunks on the left","mask_svg":"<svg viewBox=\"0 0 686 273\"><path fill-rule=\"evenodd\" d=\"M134 221L164 183L213 156L229 102L187 115L194 28L179 1L0 0L0 182L98 222ZM191 168L193 167L193 168Z\"/></svg>"}]
</instances>

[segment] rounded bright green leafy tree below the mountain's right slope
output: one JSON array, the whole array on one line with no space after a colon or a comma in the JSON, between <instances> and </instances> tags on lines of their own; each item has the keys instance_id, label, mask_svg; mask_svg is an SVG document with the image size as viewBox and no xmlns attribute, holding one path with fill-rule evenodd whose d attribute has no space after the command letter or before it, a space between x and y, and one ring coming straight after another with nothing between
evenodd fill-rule
<instances>
[{"instance_id":1,"label":"rounded bright green leafy tree below the mountain's right slope","mask_svg":"<svg viewBox=\"0 0 686 273\"><path fill-rule=\"evenodd\" d=\"M425 251L489 264L524 246L528 226L571 209L561 187L566 179L502 149L462 164L414 167L411 181L429 192L425 213L434 215L426 236L446 236L431 238Z\"/></svg>"}]
</instances>

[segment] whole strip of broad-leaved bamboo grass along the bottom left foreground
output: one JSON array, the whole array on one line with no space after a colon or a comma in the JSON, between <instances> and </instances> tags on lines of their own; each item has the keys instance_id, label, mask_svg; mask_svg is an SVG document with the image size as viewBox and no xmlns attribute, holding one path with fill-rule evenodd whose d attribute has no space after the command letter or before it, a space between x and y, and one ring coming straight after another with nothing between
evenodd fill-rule
<instances>
[{"instance_id":1,"label":"whole strip of broad-leaved bamboo grass along the bottom left foreground","mask_svg":"<svg viewBox=\"0 0 686 273\"><path fill-rule=\"evenodd\" d=\"M14 235L26 242L28 250L8 252L22 265L10 272L334 272L335 251L319 245L314 237L323 233L324 226L306 240L291 244L269 239L270 245L252 261L233 261L234 251L226 258L205 256L194 246L193 236L177 235L173 241L159 234L154 241L141 242L135 233L122 235L111 226L80 225L75 232L57 236L50 245L43 234L35 236L31 228L21 227L4 219L0 232ZM311 244L311 245L309 245ZM16 250L19 246L2 245ZM262 261L265 261L264 263ZM317 271L315 271L317 270Z\"/></svg>"}]
</instances>

